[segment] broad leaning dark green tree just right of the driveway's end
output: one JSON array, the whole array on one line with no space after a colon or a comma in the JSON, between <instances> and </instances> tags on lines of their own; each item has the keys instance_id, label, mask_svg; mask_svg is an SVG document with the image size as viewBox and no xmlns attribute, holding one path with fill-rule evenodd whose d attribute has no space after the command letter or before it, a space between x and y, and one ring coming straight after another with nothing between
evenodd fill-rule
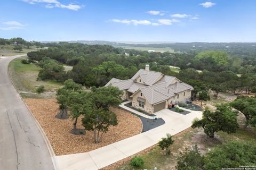
<instances>
[{"instance_id":1,"label":"broad leaning dark green tree just right of the driveway's end","mask_svg":"<svg viewBox=\"0 0 256 170\"><path fill-rule=\"evenodd\" d=\"M195 120L191 128L203 128L204 133L210 138L218 131L234 133L238 128L237 112L232 111L228 105L218 105L215 112L205 110L203 118Z\"/></svg>"}]
</instances>

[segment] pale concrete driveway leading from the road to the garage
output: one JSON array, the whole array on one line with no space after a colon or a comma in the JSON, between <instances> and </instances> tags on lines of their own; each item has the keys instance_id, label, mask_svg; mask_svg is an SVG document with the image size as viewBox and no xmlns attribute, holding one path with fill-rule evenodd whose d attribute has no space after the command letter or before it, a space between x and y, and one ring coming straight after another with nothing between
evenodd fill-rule
<instances>
[{"instance_id":1,"label":"pale concrete driveway leading from the road to the garage","mask_svg":"<svg viewBox=\"0 0 256 170\"><path fill-rule=\"evenodd\" d=\"M103 168L155 145L165 137L166 133L174 135L189 128L194 118L202 117L202 112L191 111L187 115L182 115L168 109L155 114L163 118L164 125L89 152L57 156L60 169L96 170Z\"/></svg>"}]
</instances>

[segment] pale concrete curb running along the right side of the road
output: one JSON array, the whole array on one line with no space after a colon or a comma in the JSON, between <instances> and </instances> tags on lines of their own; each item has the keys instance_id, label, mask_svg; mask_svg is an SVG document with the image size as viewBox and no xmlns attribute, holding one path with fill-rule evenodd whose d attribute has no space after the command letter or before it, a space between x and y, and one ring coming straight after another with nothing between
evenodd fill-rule
<instances>
[{"instance_id":1,"label":"pale concrete curb running along the right side of the road","mask_svg":"<svg viewBox=\"0 0 256 170\"><path fill-rule=\"evenodd\" d=\"M26 56L26 55L19 56L19 57L24 57L24 56ZM19 58L19 57L17 57L17 58ZM14 60L14 59L15 59L15 58L13 58L12 60ZM12 61L12 60L11 60L11 61ZM11 62L11 61L10 61L10 62ZM10 64L10 63L9 63L9 64ZM19 94L21 100L23 101L23 103L25 104L25 106L26 106L27 109L28 109L28 111L29 111L29 113L30 113L30 116L34 119L37 128L38 128L39 131L41 132L41 134L42 134L42 136L43 136L43 138L44 138L44 142L46 143L46 146L47 146L47 148L48 148L48 150L49 150L49 153L50 153L50 155L51 155L52 163L53 163L54 169L55 169L55 170L59 170L59 166L58 166L58 163L57 163L56 155L55 155L55 153L54 153L54 151L53 151L53 149L52 149L52 146L51 146L51 143L50 143L49 139L47 138L46 134L44 133L44 130L43 130L43 128L41 127L41 125L39 124L39 122L36 120L36 117L32 114L32 112L30 111L28 105L26 104L26 102L24 101L24 99L21 97L21 95L20 95L18 89L15 87L15 85L14 85L14 83L13 83L11 77L10 77L10 73L9 73L9 64L8 64L8 66L7 66L7 74L8 74L9 79L10 79L11 82L12 82L12 86L13 86L14 89L18 92L18 94Z\"/></svg>"}]
</instances>

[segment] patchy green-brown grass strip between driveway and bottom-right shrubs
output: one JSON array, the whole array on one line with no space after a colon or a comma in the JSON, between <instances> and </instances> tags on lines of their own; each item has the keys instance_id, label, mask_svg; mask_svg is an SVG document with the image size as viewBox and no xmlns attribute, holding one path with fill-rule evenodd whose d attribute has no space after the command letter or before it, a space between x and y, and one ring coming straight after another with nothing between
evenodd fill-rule
<instances>
[{"instance_id":1,"label":"patchy green-brown grass strip between driveway and bottom-right shrubs","mask_svg":"<svg viewBox=\"0 0 256 170\"><path fill-rule=\"evenodd\" d=\"M187 131L174 135L175 140L173 145L170 146L171 155L165 155L165 151L161 150L158 146L154 147L146 154L141 154L145 159L145 165L141 169L175 169L177 162L177 156L179 152L193 145L200 147L201 152L204 154L209 149L220 145L222 142L227 142L230 140L239 141L253 141L256 145L256 132L247 131L244 129L238 129L236 133L227 134L226 132L218 132L215 134L215 139L210 139L206 137L202 129L188 129ZM127 162L119 167L119 169L135 169Z\"/></svg>"}]
</instances>

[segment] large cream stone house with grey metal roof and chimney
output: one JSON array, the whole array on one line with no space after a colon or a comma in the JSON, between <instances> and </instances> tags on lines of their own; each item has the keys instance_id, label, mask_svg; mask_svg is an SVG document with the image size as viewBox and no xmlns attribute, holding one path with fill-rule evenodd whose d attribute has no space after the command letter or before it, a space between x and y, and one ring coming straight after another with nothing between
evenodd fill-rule
<instances>
[{"instance_id":1,"label":"large cream stone house with grey metal roof and chimney","mask_svg":"<svg viewBox=\"0 0 256 170\"><path fill-rule=\"evenodd\" d=\"M161 111L170 104L190 101L191 90L194 90L192 86L175 77L150 71L148 64L145 70L140 69L131 79L113 78L105 86L123 90L123 100L130 100L133 107L150 114Z\"/></svg>"}]
</instances>

